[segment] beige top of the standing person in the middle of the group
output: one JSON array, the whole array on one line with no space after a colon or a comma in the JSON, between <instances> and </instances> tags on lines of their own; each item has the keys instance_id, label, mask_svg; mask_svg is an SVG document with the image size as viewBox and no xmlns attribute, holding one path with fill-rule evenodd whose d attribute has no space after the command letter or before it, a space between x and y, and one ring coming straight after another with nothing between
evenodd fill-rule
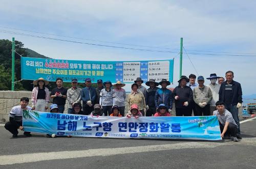
<instances>
[{"instance_id":1,"label":"beige top of the standing person in the middle of the group","mask_svg":"<svg viewBox=\"0 0 256 169\"><path fill-rule=\"evenodd\" d=\"M137 104L139 106L139 110L143 110L146 107L145 98L141 92L130 93L128 95L127 102L129 104L129 109L131 109L133 104Z\"/></svg>"}]
</instances>

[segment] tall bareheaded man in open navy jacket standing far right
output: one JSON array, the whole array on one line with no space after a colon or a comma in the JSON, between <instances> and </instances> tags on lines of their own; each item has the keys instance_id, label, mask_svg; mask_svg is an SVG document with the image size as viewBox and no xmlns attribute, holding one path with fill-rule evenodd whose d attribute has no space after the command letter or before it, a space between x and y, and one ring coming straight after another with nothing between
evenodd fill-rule
<instances>
[{"instance_id":1,"label":"tall bareheaded man in open navy jacket standing far right","mask_svg":"<svg viewBox=\"0 0 256 169\"><path fill-rule=\"evenodd\" d=\"M242 107L242 88L239 82L234 81L234 73L226 72L226 81L221 84L219 91L219 101L225 103L225 108L231 112L232 117L238 125L238 138L240 136L240 122L238 117L238 109Z\"/></svg>"}]
</instances>

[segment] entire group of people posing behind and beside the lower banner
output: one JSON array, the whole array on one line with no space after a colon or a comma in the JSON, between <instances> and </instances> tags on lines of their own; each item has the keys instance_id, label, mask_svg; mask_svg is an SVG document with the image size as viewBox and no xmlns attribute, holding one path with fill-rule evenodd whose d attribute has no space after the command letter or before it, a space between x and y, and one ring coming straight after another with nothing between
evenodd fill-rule
<instances>
[{"instance_id":1,"label":"entire group of people posing behind and beside the lower banner","mask_svg":"<svg viewBox=\"0 0 256 169\"><path fill-rule=\"evenodd\" d=\"M205 86L203 76L198 76L198 83L194 74L188 77L181 76L178 80L179 85L173 91L166 88L170 85L166 79L160 82L150 79L145 83L149 87L146 89L142 86L144 81L138 77L131 86L131 93L127 96L129 111L126 117L170 116L174 101L176 116L192 116L193 112L194 116L218 116L219 123L223 126L223 129L221 128L223 137L231 134L232 139L236 141L236 138L241 138L238 108L242 106L242 89L240 83L234 81L233 77L232 71L226 72L226 81L223 77L212 73L207 78L210 80L209 85ZM47 111L50 97L53 99L50 112L63 113L67 100L68 114L125 116L126 92L122 88L125 84L121 81L112 85L109 80L103 82L98 79L95 89L92 87L91 79L86 78L86 87L80 89L77 87L78 80L72 79L72 87L67 90L62 86L63 80L57 78L57 87L51 93L46 87L49 82L44 78L34 80L33 83L36 87L32 91L32 107L28 106L28 98L22 98L21 104L13 107L10 112L10 122L6 124L6 129L13 133L14 137L17 135L17 128L21 126L20 119L16 121L15 117L22 116L22 109ZM159 85L161 88L158 88ZM16 123L13 123L14 121ZM236 131L233 131L236 128L234 126L237 127ZM24 134L30 135L30 133Z\"/></svg>"}]
</instances>

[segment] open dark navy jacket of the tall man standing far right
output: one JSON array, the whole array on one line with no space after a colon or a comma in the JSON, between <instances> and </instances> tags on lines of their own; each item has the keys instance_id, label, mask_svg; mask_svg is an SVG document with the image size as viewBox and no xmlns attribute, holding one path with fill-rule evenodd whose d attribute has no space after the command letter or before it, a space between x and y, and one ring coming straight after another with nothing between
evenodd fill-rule
<instances>
[{"instance_id":1,"label":"open dark navy jacket of the tall man standing far right","mask_svg":"<svg viewBox=\"0 0 256 169\"><path fill-rule=\"evenodd\" d=\"M221 87L219 90L219 101L224 102L225 98L225 87L226 87L227 81L224 81L221 83ZM238 103L242 103L242 88L239 82L237 81L232 81L232 104L237 105Z\"/></svg>"}]
</instances>

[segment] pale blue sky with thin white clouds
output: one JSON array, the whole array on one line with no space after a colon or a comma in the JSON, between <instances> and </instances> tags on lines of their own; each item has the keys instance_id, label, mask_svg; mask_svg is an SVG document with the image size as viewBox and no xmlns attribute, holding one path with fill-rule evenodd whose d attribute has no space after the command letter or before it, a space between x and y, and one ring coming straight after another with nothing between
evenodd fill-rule
<instances>
[{"instance_id":1,"label":"pale blue sky with thin white clouds","mask_svg":"<svg viewBox=\"0 0 256 169\"><path fill-rule=\"evenodd\" d=\"M183 49L182 75L188 76L193 73L206 78L211 73L225 76L226 71L232 70L234 80L241 83L243 94L250 95L256 93L254 86L251 85L256 83L255 6L256 1L230 0L2 0L0 39L11 40L15 37L15 40L23 42L25 47L54 59L141 61L175 58L174 83L169 86L175 87L179 78L179 50L182 37L183 47L188 53L186 54ZM3 33L3 30L84 43L168 52L70 43L7 34ZM205 79L205 84L209 82ZM130 89L130 85L126 86L125 89Z\"/></svg>"}]
</instances>

